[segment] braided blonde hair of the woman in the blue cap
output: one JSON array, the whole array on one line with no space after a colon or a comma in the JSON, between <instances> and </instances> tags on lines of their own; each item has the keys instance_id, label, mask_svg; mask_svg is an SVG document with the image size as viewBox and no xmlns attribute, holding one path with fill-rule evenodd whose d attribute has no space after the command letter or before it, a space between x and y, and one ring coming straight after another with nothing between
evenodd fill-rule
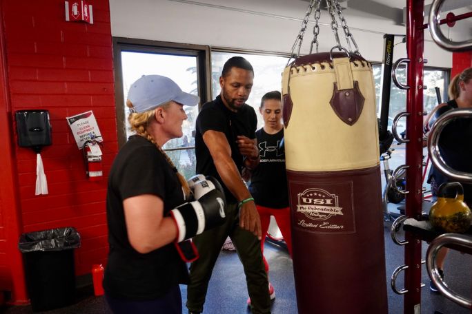
<instances>
[{"instance_id":1,"label":"braided blonde hair of the woman in the blue cap","mask_svg":"<svg viewBox=\"0 0 472 314\"><path fill-rule=\"evenodd\" d=\"M133 107L133 105L132 105L132 103L129 99L128 99L128 101L126 101L126 106L129 107L130 109ZM160 107L162 107L163 109L167 109L169 106L170 106L170 102L165 103L164 105L161 105ZM164 149L162 149L162 147L160 147L156 143L153 136L151 136L147 131L148 125L150 124L150 122L154 118L155 111L156 111L156 108L155 109L150 109L147 112L141 112L141 113L131 112L128 116L128 122L130 123L130 129L132 131L136 132L136 134L138 134L140 136L143 136L144 138L149 140L151 143L156 145L157 149L159 149L159 151L161 151L161 153L164 155L164 157L166 157L167 162L169 163L170 167L172 167L173 171L175 172L175 175L177 176L177 179L179 179L180 185L184 189L184 193L185 193L186 198L188 198L188 196L190 196L190 187L188 187L188 183L187 183L186 178L184 178L184 176L182 176L179 173L179 171L177 170L177 167L175 167L172 160L170 160L169 156L167 156Z\"/></svg>"}]
</instances>

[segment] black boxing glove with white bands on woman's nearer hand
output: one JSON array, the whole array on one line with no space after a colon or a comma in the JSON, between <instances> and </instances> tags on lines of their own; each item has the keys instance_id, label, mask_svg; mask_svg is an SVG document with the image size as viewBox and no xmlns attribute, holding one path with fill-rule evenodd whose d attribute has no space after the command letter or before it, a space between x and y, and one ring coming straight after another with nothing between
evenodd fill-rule
<instances>
[{"instance_id":1,"label":"black boxing glove with white bands on woman's nearer hand","mask_svg":"<svg viewBox=\"0 0 472 314\"><path fill-rule=\"evenodd\" d=\"M226 200L218 189L206 189L204 195L170 211L177 226L177 242L192 238L205 230L217 227L226 219Z\"/></svg>"}]
</instances>

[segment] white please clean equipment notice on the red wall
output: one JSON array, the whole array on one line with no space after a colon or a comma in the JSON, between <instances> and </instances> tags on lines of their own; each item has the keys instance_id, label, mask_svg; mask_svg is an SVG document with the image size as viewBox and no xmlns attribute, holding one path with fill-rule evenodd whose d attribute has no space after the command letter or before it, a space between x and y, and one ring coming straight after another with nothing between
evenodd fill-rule
<instances>
[{"instance_id":1,"label":"white please clean equipment notice on the red wall","mask_svg":"<svg viewBox=\"0 0 472 314\"><path fill-rule=\"evenodd\" d=\"M86 140L103 141L97 120L95 120L95 116L91 110L75 116L68 116L66 119L79 149L83 147L83 143L85 143Z\"/></svg>"}]
</instances>

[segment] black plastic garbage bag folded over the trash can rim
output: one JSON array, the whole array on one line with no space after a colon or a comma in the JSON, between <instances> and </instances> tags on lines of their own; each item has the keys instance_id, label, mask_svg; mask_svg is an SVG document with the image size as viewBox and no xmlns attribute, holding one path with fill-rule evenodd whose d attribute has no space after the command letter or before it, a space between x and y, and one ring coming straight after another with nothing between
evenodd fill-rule
<instances>
[{"instance_id":1,"label":"black plastic garbage bag folded over the trash can rim","mask_svg":"<svg viewBox=\"0 0 472 314\"><path fill-rule=\"evenodd\" d=\"M77 249L80 247L80 235L74 227L23 233L18 247L22 253Z\"/></svg>"}]
</instances>

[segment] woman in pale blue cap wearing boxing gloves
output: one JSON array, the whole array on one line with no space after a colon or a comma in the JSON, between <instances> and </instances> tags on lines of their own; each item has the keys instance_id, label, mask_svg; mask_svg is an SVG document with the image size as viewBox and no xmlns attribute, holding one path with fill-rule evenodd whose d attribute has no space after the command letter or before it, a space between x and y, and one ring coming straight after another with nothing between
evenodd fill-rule
<instances>
[{"instance_id":1,"label":"woman in pale blue cap wearing boxing gloves","mask_svg":"<svg viewBox=\"0 0 472 314\"><path fill-rule=\"evenodd\" d=\"M136 135L112 164L106 200L104 290L113 313L181 314L179 284L188 283L188 271L179 249L195 233L224 222L222 191L192 201L188 182L161 148L182 136L183 106L198 102L165 76L142 76L130 87L128 121Z\"/></svg>"}]
</instances>

